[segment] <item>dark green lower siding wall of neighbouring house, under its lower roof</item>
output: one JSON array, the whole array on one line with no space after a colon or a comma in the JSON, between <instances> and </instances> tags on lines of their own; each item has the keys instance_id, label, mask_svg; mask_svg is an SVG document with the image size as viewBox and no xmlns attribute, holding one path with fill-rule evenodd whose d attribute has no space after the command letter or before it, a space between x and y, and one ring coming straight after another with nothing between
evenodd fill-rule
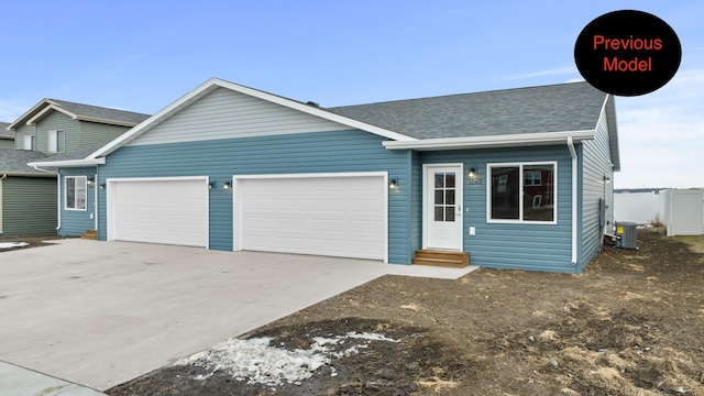
<instances>
[{"instance_id":1,"label":"dark green lower siding wall of neighbouring house, under its lower roof","mask_svg":"<svg viewBox=\"0 0 704 396\"><path fill-rule=\"evenodd\" d=\"M2 180L2 237L56 233L56 178Z\"/></svg>"}]
</instances>

